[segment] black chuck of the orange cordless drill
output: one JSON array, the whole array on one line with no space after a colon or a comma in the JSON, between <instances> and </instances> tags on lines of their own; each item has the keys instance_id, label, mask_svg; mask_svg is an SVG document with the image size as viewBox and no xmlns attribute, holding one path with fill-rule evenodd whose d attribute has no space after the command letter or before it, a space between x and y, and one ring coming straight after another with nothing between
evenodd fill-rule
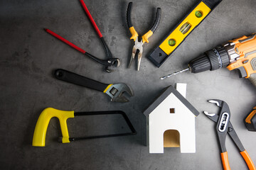
<instances>
[{"instance_id":1,"label":"black chuck of the orange cordless drill","mask_svg":"<svg viewBox=\"0 0 256 170\"><path fill-rule=\"evenodd\" d=\"M230 64L228 52L223 46L217 46L212 50L206 51L203 55L191 60L188 64L188 68L191 72L198 73L227 67L228 64Z\"/></svg>"}]
</instances>

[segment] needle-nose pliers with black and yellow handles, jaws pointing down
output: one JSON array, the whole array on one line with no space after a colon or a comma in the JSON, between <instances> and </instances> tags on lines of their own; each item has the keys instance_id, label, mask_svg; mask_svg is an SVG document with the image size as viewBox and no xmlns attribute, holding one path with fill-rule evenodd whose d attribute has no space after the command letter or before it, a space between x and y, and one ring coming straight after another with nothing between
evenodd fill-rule
<instances>
[{"instance_id":1,"label":"needle-nose pliers with black and yellow handles, jaws pointing down","mask_svg":"<svg viewBox=\"0 0 256 170\"><path fill-rule=\"evenodd\" d=\"M129 31L132 34L132 37L130 38L130 40L132 39L134 40L134 47L132 48L132 57L130 59L128 68L131 67L134 58L138 57L137 71L139 71L139 65L142 60L142 52L143 52L142 45L144 45L144 42L149 43L148 39L151 35L153 35L154 31L159 26L160 18L161 18L161 8L157 8L156 19L154 21L153 26L150 28L150 30L147 33L142 35L142 37L140 38L141 40L138 40L139 35L135 30L134 26L132 25L132 2L129 2L128 8L127 8L127 24L129 27Z\"/></svg>"}]
</instances>

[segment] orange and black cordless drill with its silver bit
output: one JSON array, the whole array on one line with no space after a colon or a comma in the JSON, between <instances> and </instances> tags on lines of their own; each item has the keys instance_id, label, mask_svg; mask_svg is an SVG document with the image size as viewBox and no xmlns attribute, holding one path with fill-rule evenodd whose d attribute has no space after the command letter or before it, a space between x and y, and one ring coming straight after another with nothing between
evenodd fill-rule
<instances>
[{"instance_id":1,"label":"orange and black cordless drill with its silver bit","mask_svg":"<svg viewBox=\"0 0 256 170\"><path fill-rule=\"evenodd\" d=\"M218 45L191 60L188 68L161 77L161 79L186 71L198 73L222 67L227 67L229 70L239 69L240 77L250 79L256 86L256 33Z\"/></svg>"}]
</instances>

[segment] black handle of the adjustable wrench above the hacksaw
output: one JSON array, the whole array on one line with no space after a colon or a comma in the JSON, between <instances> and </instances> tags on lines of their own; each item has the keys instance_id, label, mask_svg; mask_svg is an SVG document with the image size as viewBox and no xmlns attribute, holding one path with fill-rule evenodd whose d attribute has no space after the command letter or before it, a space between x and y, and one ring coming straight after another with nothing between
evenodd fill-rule
<instances>
[{"instance_id":1,"label":"black handle of the adjustable wrench above the hacksaw","mask_svg":"<svg viewBox=\"0 0 256 170\"><path fill-rule=\"evenodd\" d=\"M109 84L103 84L99 81L95 81L93 79L89 79L87 77L82 77L79 74L75 74L73 72L68 72L65 69L56 69L55 70L55 77L57 79L67 81L72 84L77 84L79 86L85 86L90 89L95 89L97 91L104 92L107 89Z\"/></svg>"}]
</instances>

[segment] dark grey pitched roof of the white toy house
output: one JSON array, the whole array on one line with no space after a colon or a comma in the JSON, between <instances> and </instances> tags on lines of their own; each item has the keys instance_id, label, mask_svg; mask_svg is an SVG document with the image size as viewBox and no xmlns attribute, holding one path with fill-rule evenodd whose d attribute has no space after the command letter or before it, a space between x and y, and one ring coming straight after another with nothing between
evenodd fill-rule
<instances>
[{"instance_id":1,"label":"dark grey pitched roof of the white toy house","mask_svg":"<svg viewBox=\"0 0 256 170\"><path fill-rule=\"evenodd\" d=\"M170 94L174 94L194 115L198 116L199 112L184 98L173 86L168 86L164 91L149 105L143 112L148 116L154 109L161 104Z\"/></svg>"}]
</instances>

